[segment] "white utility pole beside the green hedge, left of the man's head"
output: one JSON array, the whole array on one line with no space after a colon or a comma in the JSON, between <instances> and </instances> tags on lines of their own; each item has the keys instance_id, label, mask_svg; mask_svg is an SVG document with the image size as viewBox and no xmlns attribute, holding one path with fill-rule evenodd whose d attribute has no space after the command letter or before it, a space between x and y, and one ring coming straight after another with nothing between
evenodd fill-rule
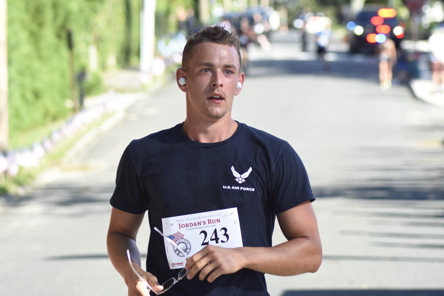
<instances>
[{"instance_id":1,"label":"white utility pole beside the green hedge, left of the man's head","mask_svg":"<svg viewBox=\"0 0 444 296\"><path fill-rule=\"evenodd\" d=\"M149 73L155 48L155 0L143 0L140 11L140 71Z\"/></svg>"}]
</instances>

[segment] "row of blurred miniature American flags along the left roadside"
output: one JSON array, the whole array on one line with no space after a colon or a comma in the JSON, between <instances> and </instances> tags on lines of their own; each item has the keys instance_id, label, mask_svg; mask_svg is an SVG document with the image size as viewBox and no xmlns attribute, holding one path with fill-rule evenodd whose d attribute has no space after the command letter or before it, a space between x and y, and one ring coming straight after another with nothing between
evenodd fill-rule
<instances>
[{"instance_id":1,"label":"row of blurred miniature American flags along the left roadside","mask_svg":"<svg viewBox=\"0 0 444 296\"><path fill-rule=\"evenodd\" d=\"M20 166L24 168L39 166L40 160L56 146L57 142L73 136L80 128L101 118L103 114L114 111L118 97L119 93L108 91L107 99L103 103L83 109L69 118L60 128L53 130L51 136L35 142L31 148L0 153L0 174L7 171L9 175L15 177Z\"/></svg>"}]
</instances>

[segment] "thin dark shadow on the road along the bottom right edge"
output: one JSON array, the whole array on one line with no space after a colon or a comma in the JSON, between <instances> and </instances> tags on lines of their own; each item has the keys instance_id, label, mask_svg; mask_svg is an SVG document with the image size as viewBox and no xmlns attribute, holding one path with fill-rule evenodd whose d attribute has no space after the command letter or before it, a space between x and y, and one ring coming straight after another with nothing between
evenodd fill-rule
<instances>
[{"instance_id":1,"label":"thin dark shadow on the road along the bottom right edge","mask_svg":"<svg viewBox=\"0 0 444 296\"><path fill-rule=\"evenodd\" d=\"M444 290L287 291L282 296L441 296Z\"/></svg>"}]
</instances>

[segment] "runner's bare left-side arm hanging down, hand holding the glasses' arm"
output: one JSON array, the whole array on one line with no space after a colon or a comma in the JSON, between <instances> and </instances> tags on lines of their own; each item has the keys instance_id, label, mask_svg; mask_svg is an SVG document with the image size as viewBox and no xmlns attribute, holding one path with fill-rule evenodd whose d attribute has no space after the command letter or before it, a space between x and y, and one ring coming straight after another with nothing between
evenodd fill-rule
<instances>
[{"instance_id":1,"label":"runner's bare left-side arm hanging down, hand holding the glasses' arm","mask_svg":"<svg viewBox=\"0 0 444 296\"><path fill-rule=\"evenodd\" d=\"M149 296L147 285L133 272L128 262L127 249L130 250L133 266L147 280L151 287L161 291L163 287L157 278L140 267L140 253L136 245L136 236L143 221L143 214L131 214L112 208L111 221L107 235L108 256L115 269L123 276L128 286L129 296Z\"/></svg>"}]
</instances>

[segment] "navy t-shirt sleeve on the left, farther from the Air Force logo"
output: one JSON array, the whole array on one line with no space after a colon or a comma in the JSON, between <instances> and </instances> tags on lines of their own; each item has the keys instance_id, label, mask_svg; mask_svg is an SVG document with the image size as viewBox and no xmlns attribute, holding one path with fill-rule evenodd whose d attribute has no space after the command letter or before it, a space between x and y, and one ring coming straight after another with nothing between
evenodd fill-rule
<instances>
[{"instance_id":1,"label":"navy t-shirt sleeve on the left, farther from the Air Force logo","mask_svg":"<svg viewBox=\"0 0 444 296\"><path fill-rule=\"evenodd\" d=\"M132 214L145 213L148 209L148 198L143 193L128 147L117 167L115 189L110 203L116 209Z\"/></svg>"}]
</instances>

